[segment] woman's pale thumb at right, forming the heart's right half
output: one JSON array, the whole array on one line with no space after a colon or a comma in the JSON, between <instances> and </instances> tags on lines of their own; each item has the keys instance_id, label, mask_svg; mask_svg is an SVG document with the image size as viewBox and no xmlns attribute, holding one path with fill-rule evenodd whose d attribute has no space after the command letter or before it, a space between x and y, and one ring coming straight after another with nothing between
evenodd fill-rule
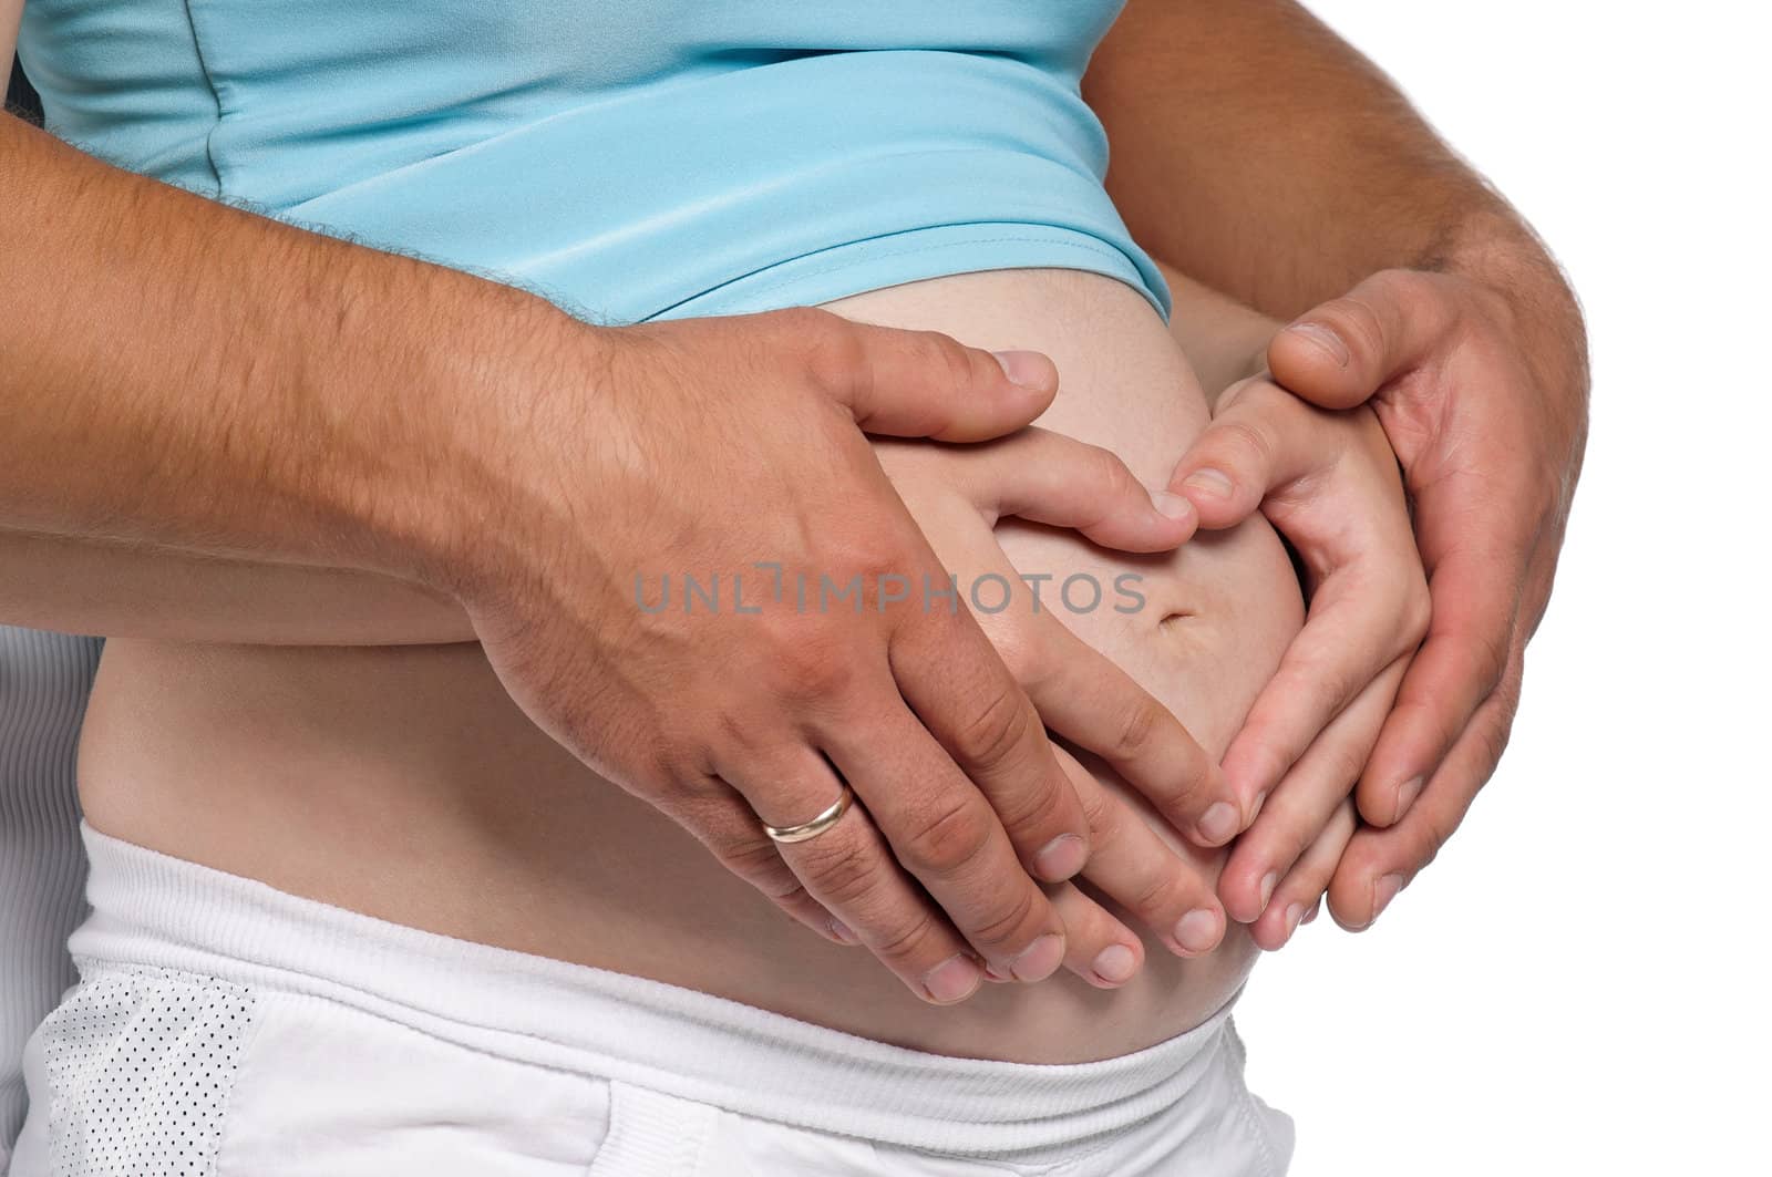
<instances>
[{"instance_id":1,"label":"woman's pale thumb at right, forming the heart's right half","mask_svg":"<svg viewBox=\"0 0 1772 1177\"><path fill-rule=\"evenodd\" d=\"M1333 461L1325 441L1315 409L1267 379L1246 379L1219 397L1212 424L1175 464L1170 489L1194 505L1200 526L1233 526L1274 487Z\"/></svg>"}]
</instances>

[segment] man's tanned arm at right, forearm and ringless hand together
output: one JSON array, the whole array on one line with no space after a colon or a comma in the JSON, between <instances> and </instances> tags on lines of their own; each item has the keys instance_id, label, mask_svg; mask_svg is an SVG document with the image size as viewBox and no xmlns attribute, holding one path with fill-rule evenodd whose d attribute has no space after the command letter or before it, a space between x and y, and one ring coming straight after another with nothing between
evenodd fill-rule
<instances>
[{"instance_id":1,"label":"man's tanned arm at right, forearm and ringless hand together","mask_svg":"<svg viewBox=\"0 0 1772 1177\"><path fill-rule=\"evenodd\" d=\"M1139 243L1295 319L1269 344L1274 378L1324 408L1372 399L1402 461L1432 620L1357 783L1361 815L1386 828L1356 837L1331 888L1336 918L1364 927L1506 744L1586 443L1581 312L1506 200L1290 0L1131 0L1083 92ZM1247 441L1212 440L1221 459L1242 450L1230 475L1203 452L1177 466L1203 519L1269 487ZM1246 821L1375 681L1354 645L1315 651L1292 702L1226 753Z\"/></svg>"}]
</instances>

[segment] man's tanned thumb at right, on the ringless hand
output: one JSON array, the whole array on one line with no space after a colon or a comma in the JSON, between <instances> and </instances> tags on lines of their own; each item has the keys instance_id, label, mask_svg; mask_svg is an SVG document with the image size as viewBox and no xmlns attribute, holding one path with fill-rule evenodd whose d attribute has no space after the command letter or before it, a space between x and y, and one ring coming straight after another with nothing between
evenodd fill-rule
<instances>
[{"instance_id":1,"label":"man's tanned thumb at right, on the ringless hand","mask_svg":"<svg viewBox=\"0 0 1772 1177\"><path fill-rule=\"evenodd\" d=\"M1364 404L1437 349L1457 317L1455 298L1444 275L1384 269L1276 331L1267 367L1325 409Z\"/></svg>"}]
</instances>

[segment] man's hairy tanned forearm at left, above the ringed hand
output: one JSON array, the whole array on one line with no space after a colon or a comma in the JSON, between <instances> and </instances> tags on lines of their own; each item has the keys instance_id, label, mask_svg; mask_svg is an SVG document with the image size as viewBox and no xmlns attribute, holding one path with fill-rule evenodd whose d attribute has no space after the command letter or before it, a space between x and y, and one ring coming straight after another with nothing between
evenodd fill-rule
<instances>
[{"instance_id":1,"label":"man's hairy tanned forearm at left, above the ringed hand","mask_svg":"<svg viewBox=\"0 0 1772 1177\"><path fill-rule=\"evenodd\" d=\"M516 436L540 298L227 207L0 117L0 526L429 571ZM576 326L576 324L574 324ZM494 360L494 356L498 356ZM475 395L480 394L480 395ZM494 438L496 441L498 438Z\"/></svg>"}]
</instances>

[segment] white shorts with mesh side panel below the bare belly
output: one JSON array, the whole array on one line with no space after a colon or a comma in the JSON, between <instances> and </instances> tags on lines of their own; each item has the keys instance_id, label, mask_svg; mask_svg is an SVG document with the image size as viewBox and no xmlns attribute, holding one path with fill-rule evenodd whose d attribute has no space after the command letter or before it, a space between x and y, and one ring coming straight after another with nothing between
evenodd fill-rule
<instances>
[{"instance_id":1,"label":"white shorts with mesh side panel below the bare belly","mask_svg":"<svg viewBox=\"0 0 1772 1177\"><path fill-rule=\"evenodd\" d=\"M1092 1064L948 1058L386 924L90 828L11 1177L1255 1177L1230 1007Z\"/></svg>"}]
</instances>

